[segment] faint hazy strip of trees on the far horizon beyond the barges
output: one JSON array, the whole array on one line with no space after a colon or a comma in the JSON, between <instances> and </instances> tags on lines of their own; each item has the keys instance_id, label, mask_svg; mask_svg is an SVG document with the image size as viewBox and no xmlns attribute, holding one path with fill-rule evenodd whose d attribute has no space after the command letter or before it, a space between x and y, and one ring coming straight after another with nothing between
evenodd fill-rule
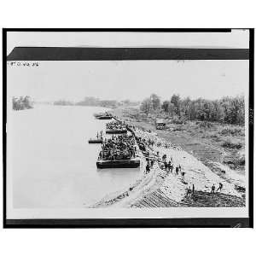
<instances>
[{"instance_id":1,"label":"faint hazy strip of trees on the far horizon beyond the barges","mask_svg":"<svg viewBox=\"0 0 256 256\"><path fill-rule=\"evenodd\" d=\"M125 100L122 102L114 101L114 100L100 100L96 97L84 97L83 101L80 102L70 102L66 100L60 100L54 102L54 105L61 106L96 106L96 107L104 107L104 108L117 108L119 106L136 106L139 102L131 102L129 100Z\"/></svg>"}]
</instances>

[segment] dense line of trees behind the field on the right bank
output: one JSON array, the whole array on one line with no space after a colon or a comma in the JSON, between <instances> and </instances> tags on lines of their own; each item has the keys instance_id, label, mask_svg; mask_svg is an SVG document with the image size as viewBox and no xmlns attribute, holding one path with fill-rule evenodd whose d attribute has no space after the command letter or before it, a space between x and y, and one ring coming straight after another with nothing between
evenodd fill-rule
<instances>
[{"instance_id":1,"label":"dense line of trees behind the field on the right bank","mask_svg":"<svg viewBox=\"0 0 256 256\"><path fill-rule=\"evenodd\" d=\"M227 124L244 125L245 103L243 96L223 97L220 100L198 98L190 100L173 95L169 101L160 101L152 94L140 106L143 113L166 114L172 119L201 120Z\"/></svg>"}]
</instances>

